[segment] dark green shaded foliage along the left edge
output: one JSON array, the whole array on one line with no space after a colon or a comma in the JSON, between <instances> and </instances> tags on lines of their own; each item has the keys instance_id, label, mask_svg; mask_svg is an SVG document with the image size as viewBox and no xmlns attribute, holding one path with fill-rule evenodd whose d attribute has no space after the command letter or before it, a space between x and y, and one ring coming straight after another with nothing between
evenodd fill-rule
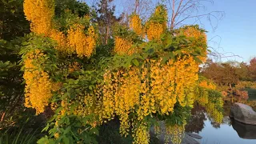
<instances>
[{"instance_id":1,"label":"dark green shaded foliage along the left edge","mask_svg":"<svg viewBox=\"0 0 256 144\"><path fill-rule=\"evenodd\" d=\"M23 110L21 60L18 52L24 36L30 32L23 13L23 1L0 1L0 129L18 125ZM13 117L14 116L14 117ZM11 119L11 120L10 120Z\"/></svg>"}]
</instances>

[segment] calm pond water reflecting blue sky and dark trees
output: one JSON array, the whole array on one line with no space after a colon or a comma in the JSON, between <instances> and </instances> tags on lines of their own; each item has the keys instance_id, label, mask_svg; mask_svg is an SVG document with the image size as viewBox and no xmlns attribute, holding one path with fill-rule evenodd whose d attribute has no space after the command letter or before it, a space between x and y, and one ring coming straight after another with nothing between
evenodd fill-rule
<instances>
[{"instance_id":1,"label":"calm pond water reflecting blue sky and dark trees","mask_svg":"<svg viewBox=\"0 0 256 144\"><path fill-rule=\"evenodd\" d=\"M256 126L235 122L228 113L224 114L222 124L218 124L200 106L195 106L192 114L186 131L202 136L198 140L201 144L256 144Z\"/></svg>"}]
</instances>

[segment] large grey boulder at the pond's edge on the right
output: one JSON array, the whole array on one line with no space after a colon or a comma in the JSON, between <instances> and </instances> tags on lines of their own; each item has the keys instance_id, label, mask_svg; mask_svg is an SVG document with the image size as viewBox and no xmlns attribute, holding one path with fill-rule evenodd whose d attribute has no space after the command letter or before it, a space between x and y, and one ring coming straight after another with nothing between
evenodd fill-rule
<instances>
[{"instance_id":1,"label":"large grey boulder at the pond's edge on the right","mask_svg":"<svg viewBox=\"0 0 256 144\"><path fill-rule=\"evenodd\" d=\"M234 103L230 110L230 118L245 124L256 125L256 112L242 103Z\"/></svg>"}]
</instances>

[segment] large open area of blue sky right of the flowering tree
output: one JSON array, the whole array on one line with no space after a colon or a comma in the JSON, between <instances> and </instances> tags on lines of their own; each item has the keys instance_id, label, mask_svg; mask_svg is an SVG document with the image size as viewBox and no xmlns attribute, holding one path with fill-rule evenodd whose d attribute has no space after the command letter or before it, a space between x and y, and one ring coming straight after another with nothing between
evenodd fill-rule
<instances>
[{"instance_id":1,"label":"large open area of blue sky right of the flowering tree","mask_svg":"<svg viewBox=\"0 0 256 144\"><path fill-rule=\"evenodd\" d=\"M223 58L249 62L256 56L256 1L255 0L215 0L214 5L208 6L210 10L223 10L225 17L219 22L218 28L213 31L206 24L208 38L218 35L221 38L220 52L232 52L242 58ZM216 38L216 41L218 38Z\"/></svg>"}]
</instances>

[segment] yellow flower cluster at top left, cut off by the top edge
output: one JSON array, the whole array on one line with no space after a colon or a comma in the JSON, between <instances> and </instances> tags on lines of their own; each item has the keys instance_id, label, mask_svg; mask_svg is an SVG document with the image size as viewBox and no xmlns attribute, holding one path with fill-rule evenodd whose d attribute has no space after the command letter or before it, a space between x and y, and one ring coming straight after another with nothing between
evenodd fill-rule
<instances>
[{"instance_id":1,"label":"yellow flower cluster at top left, cut off by the top edge","mask_svg":"<svg viewBox=\"0 0 256 144\"><path fill-rule=\"evenodd\" d=\"M54 17L54 0L24 0L24 13L30 29L37 34L50 33Z\"/></svg>"}]
</instances>

